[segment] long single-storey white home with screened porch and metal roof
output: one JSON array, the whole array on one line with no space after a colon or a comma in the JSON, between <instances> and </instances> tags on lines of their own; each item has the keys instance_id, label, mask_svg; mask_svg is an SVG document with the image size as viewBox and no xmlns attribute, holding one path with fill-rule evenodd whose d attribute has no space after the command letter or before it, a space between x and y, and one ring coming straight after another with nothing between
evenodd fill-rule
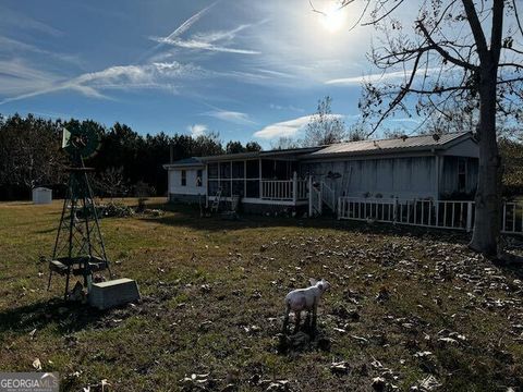
<instances>
[{"instance_id":1,"label":"long single-storey white home with screened porch and metal roof","mask_svg":"<svg viewBox=\"0 0 523 392\"><path fill-rule=\"evenodd\" d=\"M337 210L339 198L472 200L478 146L469 132L193 157L165 166L169 199L240 198L247 212Z\"/></svg>"}]
</instances>

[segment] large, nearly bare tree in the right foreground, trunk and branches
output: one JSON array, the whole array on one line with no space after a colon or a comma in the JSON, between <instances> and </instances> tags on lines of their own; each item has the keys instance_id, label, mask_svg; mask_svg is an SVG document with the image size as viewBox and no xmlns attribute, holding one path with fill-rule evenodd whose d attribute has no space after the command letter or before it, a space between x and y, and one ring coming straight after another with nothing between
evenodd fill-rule
<instances>
[{"instance_id":1,"label":"large, nearly bare tree in the right foreground, trunk and branches","mask_svg":"<svg viewBox=\"0 0 523 392\"><path fill-rule=\"evenodd\" d=\"M377 119L374 131L397 111L428 118L445 113L451 101L463 111L477 108L479 171L470 246L496 256L501 201L496 117L520 117L523 98L518 1L425 0L410 32L399 15L412 1L342 0L340 8L357 3L364 10L358 24L373 25L381 37L372 62L384 73L404 70L400 83L365 83L360 107L364 119Z\"/></svg>"}]
</instances>

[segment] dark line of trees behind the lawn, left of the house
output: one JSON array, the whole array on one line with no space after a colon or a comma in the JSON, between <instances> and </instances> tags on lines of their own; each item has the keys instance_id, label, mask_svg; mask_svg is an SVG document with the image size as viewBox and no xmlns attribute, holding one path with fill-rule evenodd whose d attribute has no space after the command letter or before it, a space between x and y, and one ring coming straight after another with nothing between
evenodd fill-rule
<instances>
[{"instance_id":1,"label":"dark line of trees behind the lawn, left of the house","mask_svg":"<svg viewBox=\"0 0 523 392\"><path fill-rule=\"evenodd\" d=\"M93 184L100 196L165 195L167 173L162 166L171 158L170 146L173 160L262 149L257 143L244 146L231 140L224 145L217 133L144 136L118 122L107 127L92 120L0 117L0 199L28 198L36 186L51 187L58 197L63 195L69 159L61 149L62 128L73 123L101 135L100 150L86 161L95 168Z\"/></svg>"}]
</instances>

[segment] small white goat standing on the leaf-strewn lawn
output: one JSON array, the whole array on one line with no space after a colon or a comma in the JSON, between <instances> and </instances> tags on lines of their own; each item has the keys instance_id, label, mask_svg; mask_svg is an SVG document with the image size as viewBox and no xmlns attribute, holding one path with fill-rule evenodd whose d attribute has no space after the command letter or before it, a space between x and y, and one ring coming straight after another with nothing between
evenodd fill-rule
<instances>
[{"instance_id":1,"label":"small white goat standing on the leaf-strewn lawn","mask_svg":"<svg viewBox=\"0 0 523 392\"><path fill-rule=\"evenodd\" d=\"M330 283L324 279L321 279L319 282L315 279L311 279L309 282L309 287L293 290L289 294L287 294L285 317L283 319L283 333L287 332L287 328L289 324L289 315L291 310L294 311L296 318L294 332L297 332L300 328L302 310L307 310L308 317L311 317L311 311L313 313L312 329L313 331L316 329L316 317L319 299L321 298L321 295L324 295L324 293L329 290Z\"/></svg>"}]
</instances>

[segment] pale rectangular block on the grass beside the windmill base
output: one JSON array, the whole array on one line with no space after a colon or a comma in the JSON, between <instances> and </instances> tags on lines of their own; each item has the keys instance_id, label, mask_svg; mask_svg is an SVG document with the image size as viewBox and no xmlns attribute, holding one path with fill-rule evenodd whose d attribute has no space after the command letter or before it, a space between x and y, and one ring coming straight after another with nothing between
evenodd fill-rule
<instances>
[{"instance_id":1,"label":"pale rectangular block on the grass beside the windmill base","mask_svg":"<svg viewBox=\"0 0 523 392\"><path fill-rule=\"evenodd\" d=\"M127 278L93 283L89 291L89 305L100 310L138 299L138 285L136 281Z\"/></svg>"}]
</instances>

